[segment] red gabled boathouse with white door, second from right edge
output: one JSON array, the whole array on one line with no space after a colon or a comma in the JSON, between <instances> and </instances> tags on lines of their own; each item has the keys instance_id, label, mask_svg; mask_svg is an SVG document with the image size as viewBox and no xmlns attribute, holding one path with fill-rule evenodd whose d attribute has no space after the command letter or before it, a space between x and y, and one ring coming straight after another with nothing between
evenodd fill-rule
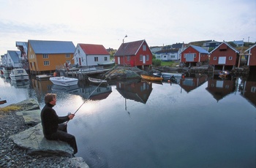
<instances>
[{"instance_id":1,"label":"red gabled boathouse with white door, second from right edge","mask_svg":"<svg viewBox=\"0 0 256 168\"><path fill-rule=\"evenodd\" d=\"M210 53L209 64L214 66L214 69L234 69L238 66L239 51L228 45L227 42L222 42L218 47Z\"/></svg>"}]
</instances>

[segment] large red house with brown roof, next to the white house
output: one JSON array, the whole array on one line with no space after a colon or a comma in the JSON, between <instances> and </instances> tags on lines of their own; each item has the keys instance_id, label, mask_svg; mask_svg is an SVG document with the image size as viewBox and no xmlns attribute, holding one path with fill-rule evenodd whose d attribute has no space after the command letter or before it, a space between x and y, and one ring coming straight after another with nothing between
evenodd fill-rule
<instances>
[{"instance_id":1,"label":"large red house with brown roof, next to the white house","mask_svg":"<svg viewBox=\"0 0 256 168\"><path fill-rule=\"evenodd\" d=\"M115 54L116 64L148 68L152 64L153 54L146 40L122 43Z\"/></svg>"}]
</instances>

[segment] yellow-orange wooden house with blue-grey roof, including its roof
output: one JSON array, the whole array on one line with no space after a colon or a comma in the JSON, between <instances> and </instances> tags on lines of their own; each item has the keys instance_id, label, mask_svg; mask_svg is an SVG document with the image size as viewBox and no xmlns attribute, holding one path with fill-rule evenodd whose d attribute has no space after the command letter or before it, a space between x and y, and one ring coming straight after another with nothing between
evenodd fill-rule
<instances>
[{"instance_id":1,"label":"yellow-orange wooden house with blue-grey roof, including its roof","mask_svg":"<svg viewBox=\"0 0 256 168\"><path fill-rule=\"evenodd\" d=\"M67 41L28 41L29 69L32 75L48 74L64 64L74 64L75 45Z\"/></svg>"}]
</instances>

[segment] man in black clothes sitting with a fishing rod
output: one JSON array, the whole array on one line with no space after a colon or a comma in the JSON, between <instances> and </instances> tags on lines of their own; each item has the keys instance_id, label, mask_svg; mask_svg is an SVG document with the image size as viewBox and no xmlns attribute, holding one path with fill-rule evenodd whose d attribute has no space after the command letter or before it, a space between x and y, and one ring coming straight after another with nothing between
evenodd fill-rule
<instances>
[{"instance_id":1,"label":"man in black clothes sitting with a fishing rod","mask_svg":"<svg viewBox=\"0 0 256 168\"><path fill-rule=\"evenodd\" d=\"M73 154L78 153L75 136L67 133L67 124L75 114L59 117L53 107L56 105L56 94L45 95L45 107L41 111L42 131L47 140L61 140L67 142L73 148Z\"/></svg>"}]
</instances>

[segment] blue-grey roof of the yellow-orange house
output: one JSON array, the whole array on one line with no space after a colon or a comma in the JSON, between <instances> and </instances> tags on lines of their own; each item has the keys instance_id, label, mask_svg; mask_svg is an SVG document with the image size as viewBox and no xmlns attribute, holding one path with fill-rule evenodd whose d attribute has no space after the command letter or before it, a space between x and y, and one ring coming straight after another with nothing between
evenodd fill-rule
<instances>
[{"instance_id":1,"label":"blue-grey roof of the yellow-orange house","mask_svg":"<svg viewBox=\"0 0 256 168\"><path fill-rule=\"evenodd\" d=\"M34 53L50 54L75 52L75 45L73 44L73 42L42 41L29 39L29 43L34 50Z\"/></svg>"}]
</instances>

